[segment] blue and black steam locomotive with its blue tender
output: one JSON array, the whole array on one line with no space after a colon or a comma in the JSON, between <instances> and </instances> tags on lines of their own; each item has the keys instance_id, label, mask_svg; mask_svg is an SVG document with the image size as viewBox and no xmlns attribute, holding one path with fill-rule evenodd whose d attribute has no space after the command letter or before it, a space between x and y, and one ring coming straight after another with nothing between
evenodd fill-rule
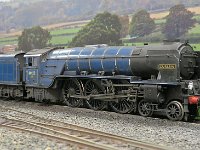
<instances>
[{"instance_id":1,"label":"blue and black steam locomotive with its blue tender","mask_svg":"<svg viewBox=\"0 0 200 150\"><path fill-rule=\"evenodd\" d=\"M200 105L200 54L187 43L91 45L0 55L0 97L190 120Z\"/></svg>"}]
</instances>

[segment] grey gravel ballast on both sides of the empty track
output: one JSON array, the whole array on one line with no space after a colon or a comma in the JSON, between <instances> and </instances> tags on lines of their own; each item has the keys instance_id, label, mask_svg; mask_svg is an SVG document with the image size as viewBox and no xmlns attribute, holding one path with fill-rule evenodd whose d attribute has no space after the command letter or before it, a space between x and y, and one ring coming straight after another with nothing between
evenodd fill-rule
<instances>
[{"instance_id":1,"label":"grey gravel ballast on both sides of the empty track","mask_svg":"<svg viewBox=\"0 0 200 150\"><path fill-rule=\"evenodd\" d=\"M199 123L173 122L161 118L30 102L0 101L0 105L48 119L167 146L169 149L200 149ZM5 128L0 128L0 140L0 149L69 149L69 145L57 141Z\"/></svg>"}]
</instances>

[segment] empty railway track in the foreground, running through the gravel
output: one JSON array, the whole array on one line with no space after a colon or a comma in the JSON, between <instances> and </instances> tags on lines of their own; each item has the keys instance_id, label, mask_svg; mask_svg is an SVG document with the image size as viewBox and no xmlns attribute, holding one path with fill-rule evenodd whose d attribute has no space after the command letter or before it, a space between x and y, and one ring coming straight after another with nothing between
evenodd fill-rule
<instances>
[{"instance_id":1,"label":"empty railway track in the foreground, running through the gravel","mask_svg":"<svg viewBox=\"0 0 200 150\"><path fill-rule=\"evenodd\" d=\"M0 126L39 134L50 139L67 142L79 148L101 150L166 150L168 148L124 138L72 124L44 119L12 108L0 107L1 111L15 112L13 116L1 115ZM24 120L24 118L28 118Z\"/></svg>"}]
</instances>

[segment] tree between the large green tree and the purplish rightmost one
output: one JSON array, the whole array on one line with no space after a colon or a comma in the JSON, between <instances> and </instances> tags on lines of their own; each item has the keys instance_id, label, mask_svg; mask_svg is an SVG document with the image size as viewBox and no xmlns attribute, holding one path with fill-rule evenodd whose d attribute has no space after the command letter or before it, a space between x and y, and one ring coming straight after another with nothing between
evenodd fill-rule
<instances>
[{"instance_id":1,"label":"tree between the large green tree and the purplish rightmost one","mask_svg":"<svg viewBox=\"0 0 200 150\"><path fill-rule=\"evenodd\" d=\"M146 10L140 10L132 17L129 34L132 37L145 36L152 33L155 28L155 22L150 18L150 14Z\"/></svg>"}]
</instances>

